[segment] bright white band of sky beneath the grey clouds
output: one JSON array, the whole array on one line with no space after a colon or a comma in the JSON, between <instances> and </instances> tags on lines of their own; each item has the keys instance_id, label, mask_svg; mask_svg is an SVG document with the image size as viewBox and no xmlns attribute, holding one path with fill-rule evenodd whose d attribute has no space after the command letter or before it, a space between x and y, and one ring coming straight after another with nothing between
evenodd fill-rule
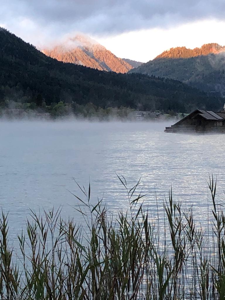
<instances>
[{"instance_id":1,"label":"bright white band of sky beneath the grey clouds","mask_svg":"<svg viewBox=\"0 0 225 300\"><path fill-rule=\"evenodd\" d=\"M95 36L100 44L118 57L147 62L172 47L201 47L203 44L224 45L225 21L201 20L170 28L143 29L107 38Z\"/></svg>"}]
</instances>

